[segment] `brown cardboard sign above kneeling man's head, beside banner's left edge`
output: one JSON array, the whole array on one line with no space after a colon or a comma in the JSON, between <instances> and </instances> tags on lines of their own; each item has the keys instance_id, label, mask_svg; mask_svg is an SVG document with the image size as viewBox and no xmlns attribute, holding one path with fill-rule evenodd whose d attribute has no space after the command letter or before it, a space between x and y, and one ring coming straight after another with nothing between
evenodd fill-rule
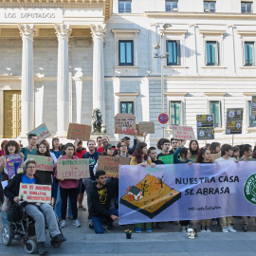
<instances>
[{"instance_id":1,"label":"brown cardboard sign above kneeling man's head, beside banner's left edge","mask_svg":"<svg viewBox=\"0 0 256 256\"><path fill-rule=\"evenodd\" d=\"M119 177L119 164L129 165L130 157L100 155L98 169L103 170L107 177Z\"/></svg>"}]
</instances>

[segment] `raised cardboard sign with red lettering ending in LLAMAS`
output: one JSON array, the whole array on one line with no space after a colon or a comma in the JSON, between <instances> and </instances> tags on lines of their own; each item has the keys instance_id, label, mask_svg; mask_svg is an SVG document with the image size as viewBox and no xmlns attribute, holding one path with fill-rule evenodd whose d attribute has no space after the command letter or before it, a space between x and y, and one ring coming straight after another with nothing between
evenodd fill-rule
<instances>
[{"instance_id":1,"label":"raised cardboard sign with red lettering ending in LLAMAS","mask_svg":"<svg viewBox=\"0 0 256 256\"><path fill-rule=\"evenodd\" d=\"M115 134L134 135L136 118L133 114L118 114L115 117Z\"/></svg>"}]
</instances>

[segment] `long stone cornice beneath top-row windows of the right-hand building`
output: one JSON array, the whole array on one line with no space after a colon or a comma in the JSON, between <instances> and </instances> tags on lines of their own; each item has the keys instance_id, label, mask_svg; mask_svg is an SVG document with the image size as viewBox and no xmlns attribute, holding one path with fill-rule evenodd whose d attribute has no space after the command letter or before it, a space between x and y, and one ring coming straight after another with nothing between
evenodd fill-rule
<instances>
[{"instance_id":1,"label":"long stone cornice beneath top-row windows of the right-hand building","mask_svg":"<svg viewBox=\"0 0 256 256\"><path fill-rule=\"evenodd\" d=\"M148 18L202 18L202 19L256 19L256 13L236 13L236 12L183 12L183 11L145 11Z\"/></svg>"}]
</instances>

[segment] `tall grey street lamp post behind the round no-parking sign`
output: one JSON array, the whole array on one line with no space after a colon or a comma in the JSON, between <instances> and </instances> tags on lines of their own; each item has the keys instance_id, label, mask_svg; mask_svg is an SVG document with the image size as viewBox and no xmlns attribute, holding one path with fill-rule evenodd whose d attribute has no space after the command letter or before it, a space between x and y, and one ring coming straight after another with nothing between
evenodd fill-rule
<instances>
[{"instance_id":1,"label":"tall grey street lamp post behind the round no-parking sign","mask_svg":"<svg viewBox=\"0 0 256 256\"><path fill-rule=\"evenodd\" d=\"M162 104L162 113L164 113L164 77L163 77L163 62L164 59L169 58L169 53L164 53L164 47L163 47L163 36L165 33L165 30L168 27L172 27L171 24L165 23L163 24L163 30L161 31L161 35L159 38L159 41L156 46L154 46L155 49L161 48L161 55L159 56L158 53L155 53L154 58L161 59L161 104ZM165 137L165 128L163 128L163 137Z\"/></svg>"}]
</instances>

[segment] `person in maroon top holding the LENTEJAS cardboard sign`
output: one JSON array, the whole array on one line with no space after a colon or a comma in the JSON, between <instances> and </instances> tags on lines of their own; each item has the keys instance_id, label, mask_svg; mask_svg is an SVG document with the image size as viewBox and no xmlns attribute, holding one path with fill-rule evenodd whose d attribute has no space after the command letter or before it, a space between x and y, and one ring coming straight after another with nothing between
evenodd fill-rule
<instances>
[{"instance_id":1,"label":"person in maroon top holding the LENTEJAS cardboard sign","mask_svg":"<svg viewBox=\"0 0 256 256\"><path fill-rule=\"evenodd\" d=\"M79 159L79 157L75 155L75 146L72 143L66 143L64 145L64 155L59 157L59 159ZM58 178L57 168L55 170L55 176ZM62 221L60 222L60 225L62 228L64 228L66 225L65 217L67 208L67 197L69 196L73 215L73 225L76 228L80 228L81 224L78 219L77 207L79 179L61 179L59 181L59 186L62 198Z\"/></svg>"}]
</instances>

